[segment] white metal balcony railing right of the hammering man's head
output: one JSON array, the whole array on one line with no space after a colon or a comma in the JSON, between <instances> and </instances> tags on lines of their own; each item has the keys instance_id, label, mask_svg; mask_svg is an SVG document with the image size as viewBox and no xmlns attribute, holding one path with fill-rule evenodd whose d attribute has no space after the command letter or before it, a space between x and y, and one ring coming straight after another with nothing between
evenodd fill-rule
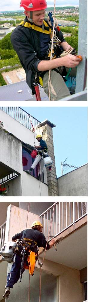
<instances>
[{"instance_id":1,"label":"white metal balcony railing right of the hammering man's head","mask_svg":"<svg viewBox=\"0 0 88 302\"><path fill-rule=\"evenodd\" d=\"M43 233L48 237L54 204L40 215ZM87 202L56 202L50 236L57 236L87 214Z\"/></svg>"}]
</instances>

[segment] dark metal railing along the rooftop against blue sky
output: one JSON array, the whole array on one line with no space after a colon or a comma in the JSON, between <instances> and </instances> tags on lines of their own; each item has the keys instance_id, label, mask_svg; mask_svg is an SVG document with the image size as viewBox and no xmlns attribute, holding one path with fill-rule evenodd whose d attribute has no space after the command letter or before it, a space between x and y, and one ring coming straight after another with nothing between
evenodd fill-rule
<instances>
[{"instance_id":1,"label":"dark metal railing along the rooftop against blue sky","mask_svg":"<svg viewBox=\"0 0 88 302\"><path fill-rule=\"evenodd\" d=\"M37 120L35 117L33 117L20 107L0 107L0 109L11 117L13 117L15 120L17 120L20 124L24 125L29 130L33 130L33 127L35 129L38 129L39 125L41 124L39 120Z\"/></svg>"}]
</instances>

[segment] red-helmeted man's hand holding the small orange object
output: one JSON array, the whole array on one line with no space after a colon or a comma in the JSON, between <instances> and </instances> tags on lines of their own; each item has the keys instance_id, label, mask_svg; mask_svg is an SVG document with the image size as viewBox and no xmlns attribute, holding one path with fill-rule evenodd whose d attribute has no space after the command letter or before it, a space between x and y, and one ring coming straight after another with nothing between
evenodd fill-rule
<instances>
[{"instance_id":1,"label":"red-helmeted man's hand holding the small orange object","mask_svg":"<svg viewBox=\"0 0 88 302\"><path fill-rule=\"evenodd\" d=\"M62 59L62 63L63 63L63 66L65 67L76 67L79 65L81 59L78 58L77 56L73 56L73 55L67 55L67 56L64 56Z\"/></svg>"}]
</instances>

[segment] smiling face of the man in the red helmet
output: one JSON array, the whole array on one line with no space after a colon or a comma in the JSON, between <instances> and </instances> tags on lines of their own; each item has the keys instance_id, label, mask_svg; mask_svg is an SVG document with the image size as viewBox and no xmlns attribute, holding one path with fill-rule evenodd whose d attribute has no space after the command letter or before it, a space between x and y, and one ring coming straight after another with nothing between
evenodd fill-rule
<instances>
[{"instance_id":1,"label":"smiling face of the man in the red helmet","mask_svg":"<svg viewBox=\"0 0 88 302\"><path fill-rule=\"evenodd\" d=\"M29 11L25 11L25 15L30 18ZM41 11L33 11L32 20L35 25L41 26L43 24L44 17L45 17L45 9L42 9Z\"/></svg>"}]
</instances>

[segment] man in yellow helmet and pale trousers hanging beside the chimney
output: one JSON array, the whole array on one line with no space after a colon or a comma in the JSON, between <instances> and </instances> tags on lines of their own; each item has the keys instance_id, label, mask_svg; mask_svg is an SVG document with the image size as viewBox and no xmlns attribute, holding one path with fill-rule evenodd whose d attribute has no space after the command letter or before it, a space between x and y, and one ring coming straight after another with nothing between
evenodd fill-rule
<instances>
[{"instance_id":1,"label":"man in yellow helmet and pale trousers hanging beside the chimney","mask_svg":"<svg viewBox=\"0 0 88 302\"><path fill-rule=\"evenodd\" d=\"M35 157L35 161L33 162L31 168L30 168L29 170L26 170L26 172L28 172L28 173L31 173L32 170L35 169L35 167L36 167L36 165L38 164L38 162L41 161L42 156L46 156L47 150L48 150L48 149L47 149L47 144L45 143L44 140L42 140L41 134L38 134L38 135L36 136L36 139L37 139L38 142L40 143L39 146L35 146L35 148L38 150L38 154L37 154L37 156ZM44 164L43 164L42 161L41 161L41 163L40 163L40 166L41 166L41 167L40 167L39 173L42 174L43 169L44 169Z\"/></svg>"}]
</instances>

